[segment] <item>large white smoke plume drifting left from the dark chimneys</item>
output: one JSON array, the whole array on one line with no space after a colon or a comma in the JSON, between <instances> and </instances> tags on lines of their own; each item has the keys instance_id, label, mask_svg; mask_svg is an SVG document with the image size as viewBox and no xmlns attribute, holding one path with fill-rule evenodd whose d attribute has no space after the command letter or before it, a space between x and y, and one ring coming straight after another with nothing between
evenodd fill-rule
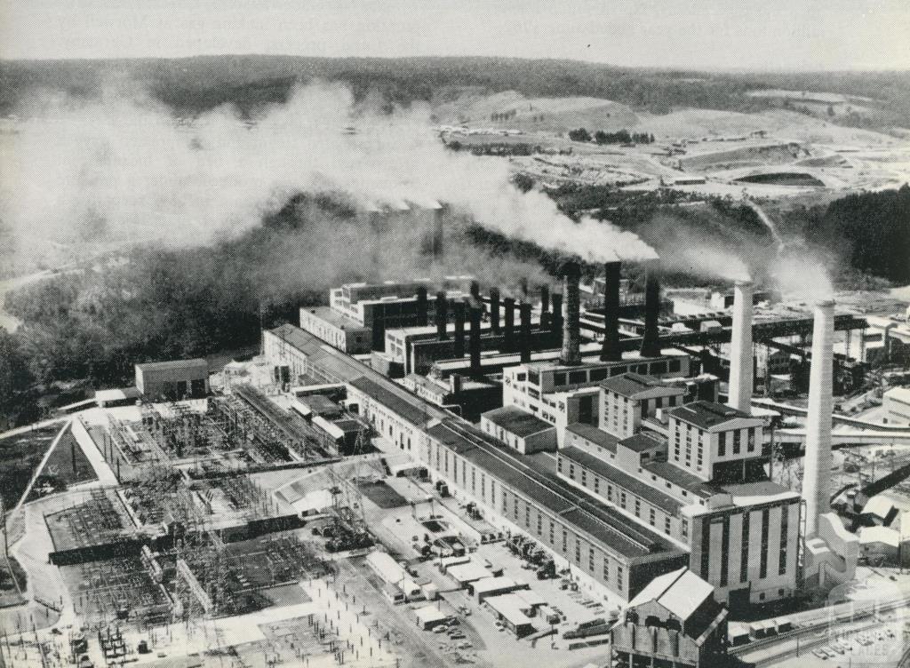
<instances>
[{"instance_id":1,"label":"large white smoke plume drifting left from the dark chimneys","mask_svg":"<svg viewBox=\"0 0 910 668\"><path fill-rule=\"evenodd\" d=\"M449 151L426 107L381 115L345 86L301 87L251 122L227 106L181 122L145 96L115 92L43 100L23 115L0 164L0 218L35 242L101 228L112 239L203 244L257 226L293 193L328 189L365 209L446 202L485 227L595 261L655 257L635 235L575 223L549 197L521 193L506 161Z\"/></svg>"}]
</instances>

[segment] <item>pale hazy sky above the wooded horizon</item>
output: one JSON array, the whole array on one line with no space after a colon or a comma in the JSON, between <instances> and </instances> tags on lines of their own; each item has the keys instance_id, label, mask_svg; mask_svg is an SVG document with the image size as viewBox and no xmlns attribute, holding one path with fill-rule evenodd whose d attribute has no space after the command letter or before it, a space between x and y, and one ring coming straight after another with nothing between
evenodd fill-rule
<instances>
[{"instance_id":1,"label":"pale hazy sky above the wooded horizon","mask_svg":"<svg viewBox=\"0 0 910 668\"><path fill-rule=\"evenodd\" d=\"M910 67L910 0L0 0L0 57L565 57Z\"/></svg>"}]
</instances>

